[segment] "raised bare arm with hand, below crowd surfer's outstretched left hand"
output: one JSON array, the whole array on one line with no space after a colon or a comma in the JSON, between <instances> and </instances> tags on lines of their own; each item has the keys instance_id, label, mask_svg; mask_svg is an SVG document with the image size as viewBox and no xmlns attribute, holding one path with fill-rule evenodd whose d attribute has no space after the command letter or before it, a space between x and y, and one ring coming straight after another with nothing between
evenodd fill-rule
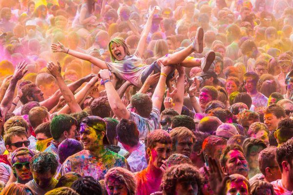
<instances>
[{"instance_id":1,"label":"raised bare arm with hand, below crowd surfer's outstretched left hand","mask_svg":"<svg viewBox=\"0 0 293 195\"><path fill-rule=\"evenodd\" d=\"M70 91L68 86L65 84L62 76L61 76L61 66L59 62L58 64L55 64L54 62L49 62L47 64L47 69L50 71L50 73L56 78L58 86L60 88L60 91L63 95L63 98L65 99L66 103L71 109L72 113L81 112L82 109L78 103L76 103L76 100L73 96L73 93Z\"/></svg>"}]
</instances>

